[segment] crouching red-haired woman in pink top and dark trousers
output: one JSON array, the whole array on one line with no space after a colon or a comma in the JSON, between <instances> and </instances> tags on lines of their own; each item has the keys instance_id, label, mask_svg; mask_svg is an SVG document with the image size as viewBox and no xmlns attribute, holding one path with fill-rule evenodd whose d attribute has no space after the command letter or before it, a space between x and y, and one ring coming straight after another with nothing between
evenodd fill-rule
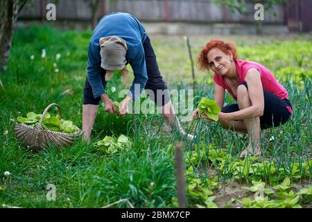
<instances>
[{"instance_id":1,"label":"crouching red-haired woman in pink top and dark trousers","mask_svg":"<svg viewBox=\"0 0 312 222\"><path fill-rule=\"evenodd\" d=\"M232 42L211 40L198 56L200 69L214 71L214 100L222 108L223 128L248 133L249 144L241 152L261 155L261 129L286 123L293 113L288 92L266 67L239 60ZM225 89L237 101L223 107ZM193 112L198 118L198 109ZM203 114L203 117L212 121Z\"/></svg>"}]
</instances>

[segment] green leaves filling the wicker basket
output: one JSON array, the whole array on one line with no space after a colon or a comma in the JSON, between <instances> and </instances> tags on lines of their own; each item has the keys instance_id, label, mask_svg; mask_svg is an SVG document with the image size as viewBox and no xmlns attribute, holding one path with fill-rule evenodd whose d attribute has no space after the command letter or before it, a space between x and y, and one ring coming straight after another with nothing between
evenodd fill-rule
<instances>
[{"instance_id":1,"label":"green leaves filling the wicker basket","mask_svg":"<svg viewBox=\"0 0 312 222\"><path fill-rule=\"evenodd\" d=\"M26 117L17 117L17 121L19 123L24 123L28 126L37 126L42 114L35 114L35 112L28 112ZM77 133L78 127L73 125L72 121L65 121L64 119L60 119L58 115L51 116L49 112L46 113L43 121L42 128L45 130L52 130L60 133Z\"/></svg>"}]
</instances>

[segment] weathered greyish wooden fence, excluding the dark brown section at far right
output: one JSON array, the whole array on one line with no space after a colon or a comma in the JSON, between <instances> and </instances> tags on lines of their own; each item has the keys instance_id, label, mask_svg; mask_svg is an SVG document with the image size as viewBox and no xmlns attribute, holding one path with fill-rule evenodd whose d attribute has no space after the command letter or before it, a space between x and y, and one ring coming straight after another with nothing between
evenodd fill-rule
<instances>
[{"instance_id":1,"label":"weathered greyish wooden fence, excluding the dark brown section at far right","mask_svg":"<svg viewBox=\"0 0 312 222\"><path fill-rule=\"evenodd\" d=\"M19 19L44 19L49 0L31 0L21 11ZM98 19L110 12L128 12L142 22L197 22L197 23L236 23L254 22L254 9L247 6L248 15L232 14L227 8L219 8L211 0L100 0ZM277 17L273 15L277 12ZM265 23L283 24L284 6L275 6L265 11ZM58 20L82 21L92 17L89 3L85 0L59 0L56 4Z\"/></svg>"}]
</instances>

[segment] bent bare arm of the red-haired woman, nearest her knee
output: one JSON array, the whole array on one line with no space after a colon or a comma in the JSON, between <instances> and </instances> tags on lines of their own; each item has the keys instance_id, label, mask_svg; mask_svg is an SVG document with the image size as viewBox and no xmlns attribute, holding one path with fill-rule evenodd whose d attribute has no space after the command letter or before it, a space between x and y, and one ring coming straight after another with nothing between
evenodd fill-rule
<instances>
[{"instance_id":1,"label":"bent bare arm of the red-haired woman, nearest her knee","mask_svg":"<svg viewBox=\"0 0 312 222\"><path fill-rule=\"evenodd\" d=\"M252 117L261 117L264 110L263 88L260 78L260 73L257 69L250 69L245 77L245 82L248 85L248 96L252 105L243 110L229 112L223 115L223 119L240 120L249 119Z\"/></svg>"}]
</instances>

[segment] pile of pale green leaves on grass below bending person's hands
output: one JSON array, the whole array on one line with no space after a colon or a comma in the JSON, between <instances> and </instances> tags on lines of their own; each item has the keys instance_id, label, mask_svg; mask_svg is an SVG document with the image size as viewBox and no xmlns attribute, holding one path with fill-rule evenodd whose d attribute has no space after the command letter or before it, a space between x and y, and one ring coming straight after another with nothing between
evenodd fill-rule
<instances>
[{"instance_id":1,"label":"pile of pale green leaves on grass below bending person's hands","mask_svg":"<svg viewBox=\"0 0 312 222\"><path fill-rule=\"evenodd\" d=\"M131 142L125 135L120 135L118 139L106 136L104 139L98 141L95 146L100 151L104 151L105 153L116 154L130 148Z\"/></svg>"}]
</instances>

